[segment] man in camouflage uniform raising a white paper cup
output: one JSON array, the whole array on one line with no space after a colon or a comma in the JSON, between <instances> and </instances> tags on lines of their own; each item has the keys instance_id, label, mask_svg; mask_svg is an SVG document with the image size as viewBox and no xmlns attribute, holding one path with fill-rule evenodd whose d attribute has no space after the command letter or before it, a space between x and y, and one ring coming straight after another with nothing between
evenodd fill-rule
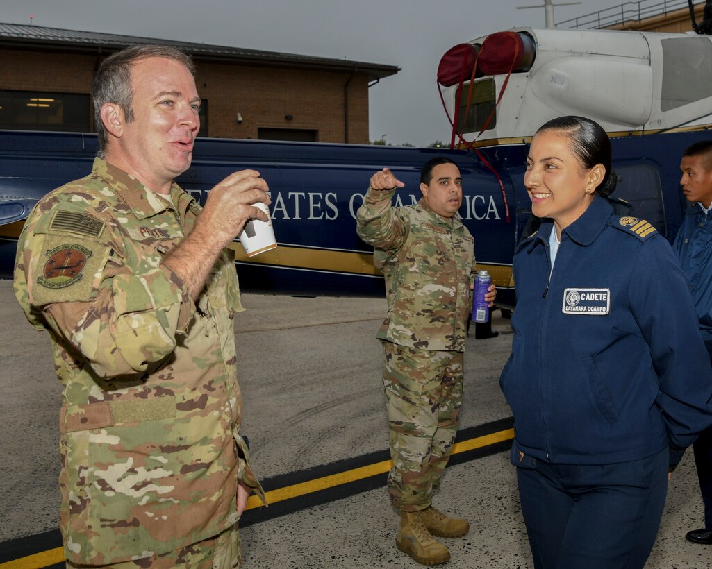
<instances>
[{"instance_id":1,"label":"man in camouflage uniform raising a white paper cup","mask_svg":"<svg viewBox=\"0 0 712 569\"><path fill-rule=\"evenodd\" d=\"M140 46L94 85L91 174L43 198L19 240L15 292L51 335L64 385L60 527L68 566L240 563L237 522L262 490L239 434L225 250L269 203L256 171L215 186L204 209L173 178L199 128L191 60Z\"/></svg>"}]
</instances>

